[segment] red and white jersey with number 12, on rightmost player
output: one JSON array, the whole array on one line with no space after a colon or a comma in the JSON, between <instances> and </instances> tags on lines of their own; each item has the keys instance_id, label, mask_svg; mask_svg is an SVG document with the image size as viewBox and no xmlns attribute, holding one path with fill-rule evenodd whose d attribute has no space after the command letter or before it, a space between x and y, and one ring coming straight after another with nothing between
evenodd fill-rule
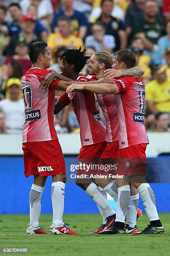
<instances>
[{"instance_id":1,"label":"red and white jersey with number 12, on rightmost player","mask_svg":"<svg viewBox=\"0 0 170 256\"><path fill-rule=\"evenodd\" d=\"M114 82L119 89L116 95L119 148L149 143L144 125L145 84L139 77L123 77Z\"/></svg>"}]
</instances>

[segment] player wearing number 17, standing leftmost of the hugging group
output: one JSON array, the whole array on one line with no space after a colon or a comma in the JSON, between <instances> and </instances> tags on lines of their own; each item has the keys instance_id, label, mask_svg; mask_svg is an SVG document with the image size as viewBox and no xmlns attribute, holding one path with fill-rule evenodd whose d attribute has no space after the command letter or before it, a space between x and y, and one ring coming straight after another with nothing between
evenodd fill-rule
<instances>
[{"instance_id":1,"label":"player wearing number 17, standing leftmost of the hugging group","mask_svg":"<svg viewBox=\"0 0 170 256\"><path fill-rule=\"evenodd\" d=\"M23 127L23 156L25 176L34 175L30 189L30 224L28 234L47 234L39 225L41 197L47 177L52 176L51 199L53 220L50 231L56 234L76 235L62 221L65 196L65 162L53 125L55 91L66 90L68 82L55 79L48 91L39 90L41 76L50 72L51 55L45 42L30 44L29 57L32 68L21 79L25 104Z\"/></svg>"}]
</instances>

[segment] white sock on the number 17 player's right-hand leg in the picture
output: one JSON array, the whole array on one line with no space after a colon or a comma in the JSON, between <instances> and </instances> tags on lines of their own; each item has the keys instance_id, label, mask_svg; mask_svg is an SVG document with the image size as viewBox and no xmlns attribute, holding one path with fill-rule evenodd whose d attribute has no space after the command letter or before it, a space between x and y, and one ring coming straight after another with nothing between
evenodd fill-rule
<instances>
[{"instance_id":1,"label":"white sock on the number 17 player's right-hand leg in the picture","mask_svg":"<svg viewBox=\"0 0 170 256\"><path fill-rule=\"evenodd\" d=\"M52 222L56 226L64 225L62 221L62 215L64 211L64 195L65 195L65 183L52 182L52 185L51 185L51 200L52 200L52 210L53 210Z\"/></svg>"}]
</instances>

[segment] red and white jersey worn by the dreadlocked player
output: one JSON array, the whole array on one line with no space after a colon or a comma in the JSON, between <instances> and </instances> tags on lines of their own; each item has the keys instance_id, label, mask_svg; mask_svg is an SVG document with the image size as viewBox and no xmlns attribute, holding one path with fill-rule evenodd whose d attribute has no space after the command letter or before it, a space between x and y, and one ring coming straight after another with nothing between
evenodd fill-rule
<instances>
[{"instance_id":1,"label":"red and white jersey worn by the dreadlocked player","mask_svg":"<svg viewBox=\"0 0 170 256\"><path fill-rule=\"evenodd\" d=\"M96 80L95 76L85 74L80 76L76 81L88 82ZM66 92L59 99L65 105L72 104L73 110L80 124L81 145L87 146L91 144L105 141L106 127L100 120L100 112L95 105L95 95L90 91L83 92Z\"/></svg>"}]
</instances>

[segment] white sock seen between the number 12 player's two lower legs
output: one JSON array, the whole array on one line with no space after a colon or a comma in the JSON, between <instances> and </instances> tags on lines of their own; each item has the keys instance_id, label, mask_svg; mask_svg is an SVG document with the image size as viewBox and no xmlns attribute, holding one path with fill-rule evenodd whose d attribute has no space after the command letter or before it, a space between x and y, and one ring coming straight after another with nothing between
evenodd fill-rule
<instances>
[{"instance_id":1,"label":"white sock seen between the number 12 player's two lower legs","mask_svg":"<svg viewBox=\"0 0 170 256\"><path fill-rule=\"evenodd\" d=\"M136 225L136 216L138 212L139 193L130 197L130 204L126 212L126 223L130 228L134 228Z\"/></svg>"}]
</instances>

